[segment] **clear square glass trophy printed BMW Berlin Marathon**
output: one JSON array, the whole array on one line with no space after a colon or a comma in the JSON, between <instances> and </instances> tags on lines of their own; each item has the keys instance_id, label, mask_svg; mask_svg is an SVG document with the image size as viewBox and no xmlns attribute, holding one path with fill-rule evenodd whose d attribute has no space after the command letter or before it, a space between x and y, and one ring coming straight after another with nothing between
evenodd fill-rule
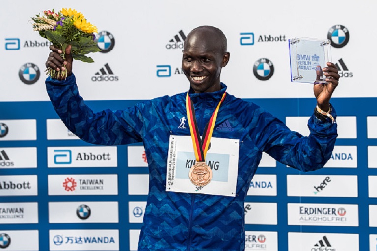
<instances>
[{"instance_id":1,"label":"clear square glass trophy printed BMW Berlin Marathon","mask_svg":"<svg viewBox=\"0 0 377 251\"><path fill-rule=\"evenodd\" d=\"M288 41L291 82L327 83L322 69L331 62L330 40L296 37Z\"/></svg>"}]
</instances>

